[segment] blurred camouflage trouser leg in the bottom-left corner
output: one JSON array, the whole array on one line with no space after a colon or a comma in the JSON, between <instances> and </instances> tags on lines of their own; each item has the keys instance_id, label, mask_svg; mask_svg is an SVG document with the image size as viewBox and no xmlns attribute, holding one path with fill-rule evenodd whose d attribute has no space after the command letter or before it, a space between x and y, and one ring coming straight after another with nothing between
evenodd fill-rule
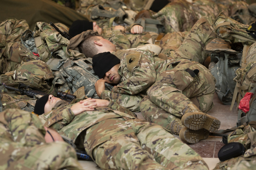
<instances>
[{"instance_id":1,"label":"blurred camouflage trouser leg in the bottom-left corner","mask_svg":"<svg viewBox=\"0 0 256 170\"><path fill-rule=\"evenodd\" d=\"M46 143L35 147L18 146L19 144L14 142L13 145L0 143L1 169L83 169L77 161L75 150L65 142Z\"/></svg>"}]
</instances>

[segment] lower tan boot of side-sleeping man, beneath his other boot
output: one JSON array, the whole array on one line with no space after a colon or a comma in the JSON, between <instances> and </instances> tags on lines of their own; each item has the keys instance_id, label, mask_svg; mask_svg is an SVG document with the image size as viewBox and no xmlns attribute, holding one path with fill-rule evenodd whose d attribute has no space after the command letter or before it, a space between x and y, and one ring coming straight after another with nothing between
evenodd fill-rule
<instances>
[{"instance_id":1,"label":"lower tan boot of side-sleeping man, beneath his other boot","mask_svg":"<svg viewBox=\"0 0 256 170\"><path fill-rule=\"evenodd\" d=\"M191 130L184 127L180 130L180 139L185 143L198 143L202 139L207 139L209 137L209 131L206 129Z\"/></svg>"}]
</instances>

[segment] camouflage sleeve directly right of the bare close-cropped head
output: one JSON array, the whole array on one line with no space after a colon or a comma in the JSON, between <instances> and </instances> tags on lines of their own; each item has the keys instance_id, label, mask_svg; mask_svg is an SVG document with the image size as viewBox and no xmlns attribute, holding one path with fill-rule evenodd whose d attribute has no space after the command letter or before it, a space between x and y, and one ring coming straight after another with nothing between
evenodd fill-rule
<instances>
[{"instance_id":1,"label":"camouflage sleeve directly right of the bare close-cropped head","mask_svg":"<svg viewBox=\"0 0 256 170\"><path fill-rule=\"evenodd\" d=\"M113 41L113 44L116 45L117 50L124 50L124 49L131 48L131 43L129 39L126 37L126 34L119 29L112 31L112 41Z\"/></svg>"}]
</instances>

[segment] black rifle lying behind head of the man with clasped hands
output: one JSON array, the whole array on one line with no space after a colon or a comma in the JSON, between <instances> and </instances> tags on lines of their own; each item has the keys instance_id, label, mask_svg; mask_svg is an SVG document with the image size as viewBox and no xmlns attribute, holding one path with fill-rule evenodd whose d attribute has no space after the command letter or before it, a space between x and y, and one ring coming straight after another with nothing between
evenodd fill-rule
<instances>
[{"instance_id":1,"label":"black rifle lying behind head of the man with clasped hands","mask_svg":"<svg viewBox=\"0 0 256 170\"><path fill-rule=\"evenodd\" d=\"M4 83L3 83L4 84ZM20 83L18 88L14 88L14 87L10 87L10 86L6 86L6 84L4 84L5 88L8 90L14 90L17 92L20 92L22 95L26 95L30 98L34 98L35 95L40 94L40 95L48 95L47 93L44 92L40 92L37 90L32 90L29 86L26 86L23 83ZM62 100L66 100L68 103L71 103L72 100L76 99L76 96L73 94L68 94L62 91L58 91L57 92L57 96L58 98L61 98Z\"/></svg>"}]
</instances>

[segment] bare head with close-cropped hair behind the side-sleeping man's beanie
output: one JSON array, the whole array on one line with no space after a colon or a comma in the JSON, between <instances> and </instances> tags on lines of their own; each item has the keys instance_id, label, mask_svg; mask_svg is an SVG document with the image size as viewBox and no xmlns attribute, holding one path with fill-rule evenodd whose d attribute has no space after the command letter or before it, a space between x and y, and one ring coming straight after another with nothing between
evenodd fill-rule
<instances>
[{"instance_id":1,"label":"bare head with close-cropped hair behind the side-sleeping man's beanie","mask_svg":"<svg viewBox=\"0 0 256 170\"><path fill-rule=\"evenodd\" d=\"M116 45L103 37L95 35L87 35L78 45L78 48L81 53L90 58L98 53L116 51Z\"/></svg>"}]
</instances>

